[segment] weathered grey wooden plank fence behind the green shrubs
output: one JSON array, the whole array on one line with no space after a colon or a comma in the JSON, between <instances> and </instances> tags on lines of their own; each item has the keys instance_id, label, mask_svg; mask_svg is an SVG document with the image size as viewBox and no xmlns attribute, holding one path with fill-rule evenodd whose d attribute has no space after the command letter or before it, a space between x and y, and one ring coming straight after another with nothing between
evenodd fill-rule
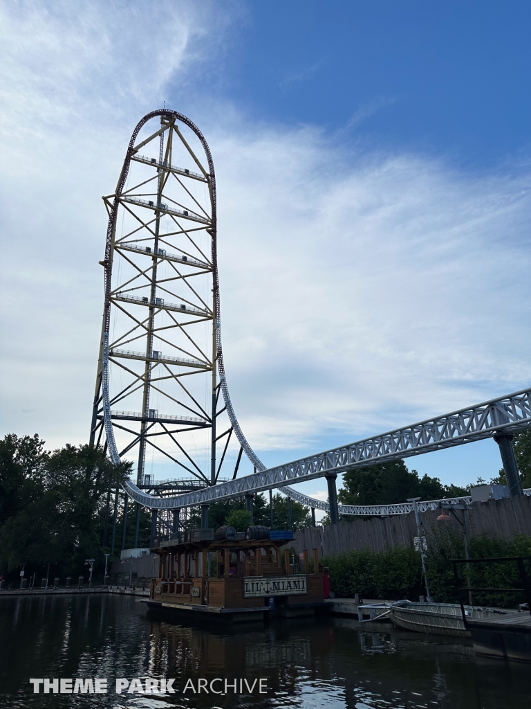
<instances>
[{"instance_id":1,"label":"weathered grey wooden plank fence behind the green shrubs","mask_svg":"<svg viewBox=\"0 0 531 709\"><path fill-rule=\"evenodd\" d=\"M430 510L421 513L421 522L426 530L432 524L441 524L437 522L440 512ZM455 520L452 526L460 528ZM473 535L485 532L489 537L499 539L518 534L531 535L531 498L525 496L474 503L470 512L470 531ZM320 556L341 554L350 549L369 548L372 552L383 552L395 545L411 546L415 534L415 515L411 512L409 515L360 518L326 527L307 527L297 532L293 545L297 552L319 549Z\"/></svg>"}]
</instances>

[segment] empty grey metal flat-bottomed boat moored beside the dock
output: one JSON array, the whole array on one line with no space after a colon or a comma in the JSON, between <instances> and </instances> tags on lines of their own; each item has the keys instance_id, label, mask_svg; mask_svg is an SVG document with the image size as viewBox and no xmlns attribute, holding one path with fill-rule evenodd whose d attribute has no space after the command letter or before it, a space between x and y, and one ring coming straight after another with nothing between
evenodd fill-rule
<instances>
[{"instance_id":1,"label":"empty grey metal flat-bottomed boat moored beside the dock","mask_svg":"<svg viewBox=\"0 0 531 709\"><path fill-rule=\"evenodd\" d=\"M479 605L465 605L467 619L491 619L510 615L512 611L500 608L483 608ZM389 618L397 627L436 635L471 637L464 627L461 606L458 603L411 603L400 601L389 605Z\"/></svg>"}]
</instances>

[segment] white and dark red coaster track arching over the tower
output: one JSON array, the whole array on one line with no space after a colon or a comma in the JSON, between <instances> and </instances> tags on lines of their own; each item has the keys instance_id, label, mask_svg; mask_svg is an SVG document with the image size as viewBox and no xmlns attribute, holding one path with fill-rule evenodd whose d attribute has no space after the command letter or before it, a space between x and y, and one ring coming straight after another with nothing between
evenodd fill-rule
<instances>
[{"instance_id":1,"label":"white and dark red coaster track arching over the tower","mask_svg":"<svg viewBox=\"0 0 531 709\"><path fill-rule=\"evenodd\" d=\"M113 427L113 413L111 412L111 396L109 389L109 361L110 356L113 354L113 350L110 347L110 311L111 311L111 275L112 275L112 259L113 259L113 244L115 238L115 230L118 216L118 207L120 206L120 201L128 201L130 203L139 203L141 200L132 199L123 196L124 187L127 181L127 175L130 169L131 160L137 160L138 162L146 162L146 164L151 164L154 160L144 158L137 155L140 147L143 147L147 141L140 143L135 146L135 141L139 131L144 126L147 121L157 116L161 117L161 121L181 121L193 130L193 133L200 140L205 155L207 157L208 163L208 174L205 173L205 179L209 183L210 188L210 199L212 206L212 213L209 221L210 234L212 236L212 283L213 283L213 304L214 304L214 329L215 329L215 357L213 357L212 362L212 376L215 379L215 365L217 364L217 372L219 373L219 387L222 392L224 406L229 417L232 430L236 435L241 450L246 453L249 458L255 473L248 476L242 476L230 481L224 481L219 484L214 484L217 480L217 476L214 476L212 472L212 484L206 486L203 489L195 490L193 492L183 493L178 496L173 497L157 497L144 493L139 487L132 483L132 481L127 481L125 484L125 490L127 494L137 503L145 506L147 508L159 509L159 510L169 510L175 508L185 508L190 506L197 506L202 503L211 503L215 501L227 500L236 496L244 495L245 493L258 493L270 489L279 489L283 494L292 498L293 500L302 503L305 506L316 508L319 510L329 511L329 504L320 501L309 496L305 496L298 493L294 489L290 488L290 483L302 482L307 480L312 480L320 478L323 476L329 476L331 474L343 473L348 470L352 470L358 467L364 467L375 462L385 462L396 459L403 459L406 457L411 457L418 454L423 454L426 452L431 452L435 450L441 450L447 447L454 447L456 445L463 445L465 443L482 440L487 437L492 437L494 434L499 432L518 432L527 428L531 425L531 389L523 389L516 393L510 394L508 396L503 396L501 398L492 399L491 401L486 401L484 403L478 404L476 406L464 408L459 411L454 411L452 413L442 415L438 418L433 418L430 420L422 421L421 423L416 423L405 428L400 428L396 430L389 431L382 435L375 437L370 437L358 442L338 447L332 450L328 450L310 457L304 457L293 462L287 463L285 465L277 466L274 468L266 469L265 465L258 458L256 453L249 445L246 440L244 433L241 430L239 422L234 413L234 408L232 406L232 401L229 396L229 389L227 386L227 377L224 371L223 362L223 350L222 350L222 335L221 335L221 316L220 316L220 306L219 306L219 281L217 273L217 195L216 195L216 182L215 182L215 170L212 161L212 155L210 153L210 148L207 142L198 129L198 127L190 121L183 114L176 111L162 110L162 111L152 111L148 113L147 116L142 118L133 131L132 138L130 140L129 147L127 149L127 155L125 157L125 162L122 167L122 172L120 174L120 179L118 181L118 186L113 195L112 203L109 203L109 222L107 230L107 239L105 244L105 259L102 262L105 268L105 306L104 306L104 317L103 317L103 333L101 341L101 369L99 372L100 379L96 387L96 398L94 404L94 414L93 414L93 425L92 425L92 435L97 429L98 418L101 420L101 425L105 430L105 439L108 445L108 451L113 462L120 462L120 452L118 451L118 446L116 445L114 427ZM160 133L162 132L162 129ZM158 135L158 134L155 134ZM152 136L153 138L153 136ZM185 174L186 177L191 177L193 179L203 179L201 174L190 174L190 171L179 171L178 169L171 168L174 172L178 174ZM153 203L142 204L142 206L151 206ZM196 222L205 222L207 220L202 218L202 216L190 213L190 211L184 211L183 209L168 208L167 205L157 205L159 211L164 209L165 213L175 213L179 216L185 216ZM130 246L130 251L138 250L136 246ZM169 256L174 260L182 259L178 255ZM187 262L188 263L188 262ZM200 262L197 262L199 265ZM188 265L193 265L193 260L188 263ZM203 264L204 265L204 264ZM116 298L116 294L115 298ZM149 307L153 306L148 298L143 298L143 301L148 301L142 303L140 298L136 296L122 296L122 301L138 301L139 304L144 304ZM153 298L152 298L153 300ZM183 306L181 306L182 308ZM178 310L178 306L171 306L173 310ZM171 309L170 308L170 309ZM194 314L190 311L190 314ZM119 350L114 350L114 352L120 352ZM126 350L121 351L126 352ZM155 354L155 353L153 353ZM159 353L156 353L157 357ZM148 356L149 355L149 356ZM132 359L142 359L142 353L129 352L129 354L122 354L122 356L130 357ZM153 359L151 352L148 352L144 359ZM170 362L173 359L175 362L180 362L181 364L185 362L183 359L166 357L165 362ZM160 361L160 360L159 360ZM188 367L202 367L205 362L195 361L192 359L186 360L188 362ZM195 364L194 364L195 362ZM215 406L212 410L215 412ZM128 414L131 412L118 412L122 414ZM212 414L212 445L215 446L215 416L217 414ZM118 415L114 415L114 418L119 418ZM124 418L124 417L122 417ZM129 417L133 418L132 416ZM147 412L143 412L139 415L139 418L145 422L147 420ZM172 417L169 417L172 418ZM176 417L173 417L176 418ZM161 419L166 420L166 419ZM183 420L183 419L180 419ZM192 419L190 419L190 422ZM198 421L198 419L195 419ZM204 421L205 425L208 423L207 420ZM199 424L196 424L199 425ZM228 445L228 444L227 444ZM215 450L215 449L214 449ZM215 453L213 455L213 460L215 461ZM214 466L214 463L212 464ZM218 470L219 474L219 470ZM459 498L460 499L460 498ZM456 498L457 501L457 498ZM452 501L447 501L452 502ZM421 503L423 506L430 506L438 501L430 501L428 503ZM346 515L363 515L363 514L396 514L396 513L406 513L411 511L409 508L412 505L404 503L400 506L338 506L340 514ZM426 507L428 509L428 507ZM378 510L378 511L377 511Z\"/></svg>"}]
</instances>

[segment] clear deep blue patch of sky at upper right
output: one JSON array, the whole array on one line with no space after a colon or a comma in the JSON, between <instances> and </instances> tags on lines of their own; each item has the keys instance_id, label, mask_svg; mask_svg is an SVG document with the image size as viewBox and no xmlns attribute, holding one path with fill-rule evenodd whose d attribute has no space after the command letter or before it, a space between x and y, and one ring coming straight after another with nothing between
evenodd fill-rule
<instances>
[{"instance_id":1,"label":"clear deep blue patch of sky at upper right","mask_svg":"<svg viewBox=\"0 0 531 709\"><path fill-rule=\"evenodd\" d=\"M254 121L485 169L529 147L524 1L249 2L205 91ZM178 91L177 91L178 94Z\"/></svg>"}]
</instances>

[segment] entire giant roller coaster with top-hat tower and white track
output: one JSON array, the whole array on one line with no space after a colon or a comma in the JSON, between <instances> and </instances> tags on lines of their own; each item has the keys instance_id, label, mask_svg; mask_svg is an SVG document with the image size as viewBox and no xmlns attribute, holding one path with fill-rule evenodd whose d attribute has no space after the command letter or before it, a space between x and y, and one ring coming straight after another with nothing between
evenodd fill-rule
<instances>
[{"instance_id":1,"label":"entire giant roller coaster with top-hat tower and white track","mask_svg":"<svg viewBox=\"0 0 531 709\"><path fill-rule=\"evenodd\" d=\"M239 496L249 502L273 489L328 512L332 523L341 514L406 513L411 503L339 505L337 474L487 437L500 447L510 494L523 494L511 441L531 425L531 388L267 469L241 430L227 386L216 178L199 128L166 108L144 116L115 192L103 201L105 301L90 441L99 445L104 437L115 463L137 450L136 484L125 484L126 504L128 497L137 503L137 530L141 506L154 515L200 506L205 525L210 503ZM239 453L222 477L233 435ZM191 479L154 484L145 472L148 450ZM239 476L243 453L253 473ZM290 487L320 477L328 503Z\"/></svg>"}]
</instances>

